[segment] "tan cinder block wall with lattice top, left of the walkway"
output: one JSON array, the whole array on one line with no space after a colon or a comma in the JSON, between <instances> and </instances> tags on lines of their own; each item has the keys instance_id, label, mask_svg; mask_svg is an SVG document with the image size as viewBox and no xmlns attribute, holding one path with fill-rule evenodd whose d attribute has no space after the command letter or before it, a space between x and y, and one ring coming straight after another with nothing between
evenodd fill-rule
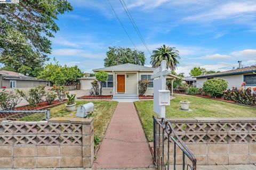
<instances>
[{"instance_id":1,"label":"tan cinder block wall with lattice top, left of the walkway","mask_svg":"<svg viewBox=\"0 0 256 170\"><path fill-rule=\"evenodd\" d=\"M0 168L91 167L93 118L0 123Z\"/></svg>"}]
</instances>

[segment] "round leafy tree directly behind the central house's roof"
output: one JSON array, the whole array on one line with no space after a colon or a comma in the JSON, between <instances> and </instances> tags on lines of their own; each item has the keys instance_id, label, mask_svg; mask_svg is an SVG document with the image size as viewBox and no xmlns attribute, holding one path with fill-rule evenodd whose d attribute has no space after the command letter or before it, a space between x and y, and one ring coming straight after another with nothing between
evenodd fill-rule
<instances>
[{"instance_id":1,"label":"round leafy tree directly behind the central house's roof","mask_svg":"<svg viewBox=\"0 0 256 170\"><path fill-rule=\"evenodd\" d=\"M131 48L123 47L108 47L107 57L104 59L104 66L113 66L119 64L145 64L144 52L137 51Z\"/></svg>"}]
</instances>

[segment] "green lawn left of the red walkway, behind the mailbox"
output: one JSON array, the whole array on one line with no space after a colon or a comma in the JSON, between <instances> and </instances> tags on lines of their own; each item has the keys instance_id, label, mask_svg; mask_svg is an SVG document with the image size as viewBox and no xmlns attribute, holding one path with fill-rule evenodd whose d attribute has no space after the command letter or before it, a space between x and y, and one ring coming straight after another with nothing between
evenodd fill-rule
<instances>
[{"instance_id":1,"label":"green lawn left of the red walkway, behind the mailbox","mask_svg":"<svg viewBox=\"0 0 256 170\"><path fill-rule=\"evenodd\" d=\"M76 101L77 106L92 102L94 104L94 136L98 137L100 142L102 141L111 117L115 111L117 102L116 101ZM42 114L41 114L42 115ZM67 112L65 104L51 108L52 117L76 117L76 111ZM38 120L39 118L39 120ZM29 115L22 118L26 121L40 121L42 117L37 114Z\"/></svg>"}]
</instances>

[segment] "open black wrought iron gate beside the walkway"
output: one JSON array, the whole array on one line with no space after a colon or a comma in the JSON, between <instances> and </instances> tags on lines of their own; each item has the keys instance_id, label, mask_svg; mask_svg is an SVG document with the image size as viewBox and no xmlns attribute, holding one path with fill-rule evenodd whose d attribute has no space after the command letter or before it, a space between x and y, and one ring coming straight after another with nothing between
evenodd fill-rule
<instances>
[{"instance_id":1,"label":"open black wrought iron gate beside the walkway","mask_svg":"<svg viewBox=\"0 0 256 170\"><path fill-rule=\"evenodd\" d=\"M164 118L153 116L154 120L154 163L159 170L177 169L196 170L196 157L186 147L182 139L173 130L172 124ZM177 147L178 146L178 147ZM171 148L173 147L173 148ZM181 150L182 162L177 160L177 152ZM188 158L188 160L186 160Z\"/></svg>"}]
</instances>

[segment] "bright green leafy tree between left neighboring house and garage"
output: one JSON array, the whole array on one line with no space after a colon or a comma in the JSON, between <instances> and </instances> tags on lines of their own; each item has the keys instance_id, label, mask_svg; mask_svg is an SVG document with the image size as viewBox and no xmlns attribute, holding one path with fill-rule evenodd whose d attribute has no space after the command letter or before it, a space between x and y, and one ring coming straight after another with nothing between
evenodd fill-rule
<instances>
[{"instance_id":1,"label":"bright green leafy tree between left neighboring house and garage","mask_svg":"<svg viewBox=\"0 0 256 170\"><path fill-rule=\"evenodd\" d=\"M39 79L51 81L55 85L66 85L77 83L83 73L77 66L68 67L56 64L47 64L43 71L39 74Z\"/></svg>"}]
</instances>

